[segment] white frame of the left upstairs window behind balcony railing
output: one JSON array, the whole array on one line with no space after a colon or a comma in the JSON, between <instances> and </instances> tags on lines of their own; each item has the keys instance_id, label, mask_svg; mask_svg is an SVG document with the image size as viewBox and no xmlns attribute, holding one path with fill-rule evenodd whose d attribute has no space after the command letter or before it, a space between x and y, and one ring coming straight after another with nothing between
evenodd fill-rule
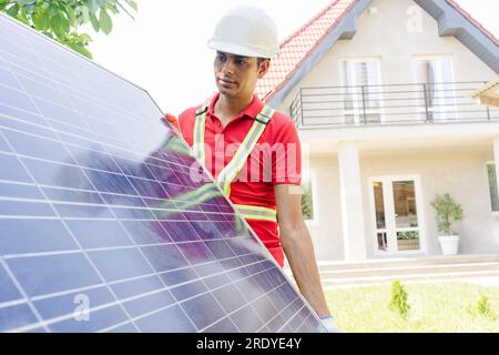
<instances>
[{"instance_id":1,"label":"white frame of the left upstairs window behind balcony railing","mask_svg":"<svg viewBox=\"0 0 499 355\"><path fill-rule=\"evenodd\" d=\"M347 62L347 65L353 65L355 63L364 63L364 62L375 62L376 63L376 71L378 73L379 79L379 85L383 85L383 72L381 72L381 60L378 57L357 57L357 58L340 58L338 60L339 65L339 79L342 87L348 87L350 83L345 82L344 78L346 77L346 73L343 69L343 62ZM355 70L352 71L355 75ZM354 81L356 81L356 78L354 78ZM383 87L379 87L379 108L378 109L366 109L366 115L369 113L378 113L379 114L379 123L385 122L385 111L384 111L384 90ZM358 92L355 93L355 95L359 95ZM358 103L354 103L354 109L352 111L343 110L344 116L347 114L354 115L354 123L355 124L364 124L364 122L360 122L360 115L364 114L363 110L358 108ZM345 120L346 121L346 120Z\"/></svg>"}]
</instances>

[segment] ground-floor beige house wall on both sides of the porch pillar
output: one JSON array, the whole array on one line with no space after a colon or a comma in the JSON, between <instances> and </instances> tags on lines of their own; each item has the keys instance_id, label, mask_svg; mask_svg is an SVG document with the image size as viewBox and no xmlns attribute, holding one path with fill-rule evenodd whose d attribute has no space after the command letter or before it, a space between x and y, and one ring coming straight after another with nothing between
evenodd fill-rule
<instances>
[{"instance_id":1,"label":"ground-floor beige house wall on both sides of the porch pillar","mask_svg":"<svg viewBox=\"0 0 499 355\"><path fill-rule=\"evenodd\" d=\"M417 175L420 180L427 255L441 254L437 224L430 205L437 194L449 193L462 205L465 220L454 225L461 235L460 253L499 252L499 216L491 212L486 163L492 148L467 146L428 150L360 152L367 257L374 257L374 211L369 202L373 176ZM337 155L315 156L310 168L317 176L319 219L310 226L319 261L344 258ZM421 253L422 255L422 253Z\"/></svg>"}]
</instances>

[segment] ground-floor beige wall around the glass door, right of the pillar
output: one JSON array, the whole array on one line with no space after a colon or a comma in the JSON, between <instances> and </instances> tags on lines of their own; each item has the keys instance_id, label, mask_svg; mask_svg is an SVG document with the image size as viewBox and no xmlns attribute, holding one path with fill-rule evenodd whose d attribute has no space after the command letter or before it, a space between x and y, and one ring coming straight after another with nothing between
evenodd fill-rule
<instances>
[{"instance_id":1,"label":"ground-floor beige wall around the glass door, right of the pillar","mask_svg":"<svg viewBox=\"0 0 499 355\"><path fill-rule=\"evenodd\" d=\"M418 175L421 182L424 224L428 254L441 254L437 242L435 212L430 205L437 194L449 193L464 210L464 221L454 229L461 235L460 253L499 252L499 216L491 212L486 163L492 149L459 148L401 152L365 153L360 158L368 256L373 256L374 212L368 179L387 175ZM319 186L320 189L320 186Z\"/></svg>"}]
</instances>

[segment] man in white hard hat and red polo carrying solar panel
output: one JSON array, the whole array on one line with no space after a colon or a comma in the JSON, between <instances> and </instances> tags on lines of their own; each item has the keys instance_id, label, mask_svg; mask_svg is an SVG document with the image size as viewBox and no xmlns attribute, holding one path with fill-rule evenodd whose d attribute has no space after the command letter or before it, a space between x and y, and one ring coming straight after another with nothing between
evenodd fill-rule
<instances>
[{"instance_id":1,"label":"man in white hard hat and red polo carrying solar panel","mask_svg":"<svg viewBox=\"0 0 499 355\"><path fill-rule=\"evenodd\" d=\"M218 93L184 111L180 130L281 266L286 255L302 294L326 328L337 332L296 192L301 185L296 128L254 93L257 80L278 54L276 26L261 9L238 7L222 17L208 47L216 51ZM172 116L166 119L176 123ZM265 159L271 163L265 164Z\"/></svg>"}]
</instances>

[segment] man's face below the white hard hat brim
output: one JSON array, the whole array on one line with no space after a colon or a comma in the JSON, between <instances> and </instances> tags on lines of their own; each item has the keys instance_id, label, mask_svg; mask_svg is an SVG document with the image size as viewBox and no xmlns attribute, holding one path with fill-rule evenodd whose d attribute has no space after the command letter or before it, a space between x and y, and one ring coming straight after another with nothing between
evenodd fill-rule
<instances>
[{"instance_id":1,"label":"man's face below the white hard hat brim","mask_svg":"<svg viewBox=\"0 0 499 355\"><path fill-rule=\"evenodd\" d=\"M254 57L216 52L215 80L218 91L228 98L253 95L256 81L265 75L268 61L258 64Z\"/></svg>"}]
</instances>

